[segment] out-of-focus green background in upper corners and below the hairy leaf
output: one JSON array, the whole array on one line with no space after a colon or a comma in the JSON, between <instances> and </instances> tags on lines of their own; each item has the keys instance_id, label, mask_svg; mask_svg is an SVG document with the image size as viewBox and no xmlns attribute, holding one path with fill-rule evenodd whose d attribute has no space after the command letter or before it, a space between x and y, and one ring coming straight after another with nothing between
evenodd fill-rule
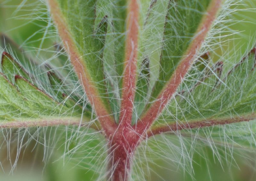
<instances>
[{"instance_id":1,"label":"out-of-focus green background in upper corners and below the hairy leaf","mask_svg":"<svg viewBox=\"0 0 256 181\"><path fill-rule=\"evenodd\" d=\"M230 33L225 36L226 40L232 40L225 41L222 47L213 45L213 61L233 55L231 62L235 62L248 50L248 42L255 34L256 11L253 8L256 8L256 2L244 2L247 3L246 8L251 10L236 11L236 14L230 15L236 23L229 22L228 31L223 35L232 32L232 28L242 33L236 35ZM244 7L240 5L240 9ZM44 1L0 0L0 33L1 36L5 36L5 41L3 39L1 41L0 52L8 44L9 51L23 51L41 66L45 62L53 67L62 65L58 58L52 58L56 54L54 45L60 40L51 23ZM239 50L236 51L234 46L230 46L231 44L235 44ZM249 46L252 46L252 43ZM67 57L64 56L64 59L66 62ZM107 148L104 138L92 132L87 128L77 130L73 126L2 129L0 180L102 179L105 173ZM166 146L166 143L170 144ZM156 136L138 149L132 177L134 180L143 180L144 177L145 180L152 181L256 180L255 153L247 153L246 150L230 152L225 149L222 147L213 149L203 143L193 145L191 138L183 138L181 142L176 135Z\"/></svg>"}]
</instances>

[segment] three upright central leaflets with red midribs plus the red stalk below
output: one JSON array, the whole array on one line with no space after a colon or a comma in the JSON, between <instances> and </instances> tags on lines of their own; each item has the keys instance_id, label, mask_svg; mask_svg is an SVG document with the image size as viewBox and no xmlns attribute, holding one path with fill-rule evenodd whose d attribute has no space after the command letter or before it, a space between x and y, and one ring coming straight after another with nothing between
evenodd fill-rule
<instances>
[{"instance_id":1,"label":"three upright central leaflets with red midribs plus the red stalk below","mask_svg":"<svg viewBox=\"0 0 256 181\"><path fill-rule=\"evenodd\" d=\"M74 3L48 0L48 5L71 63L106 135L110 169L114 172L109 175L110 179L126 180L141 136L145 135L145 130L155 121L187 73L222 1L117 0L105 3L78 0ZM121 15L114 16L116 11ZM163 12L163 15L155 18L153 12ZM156 43L155 46L148 46L147 38L156 32L159 35L150 41L150 45ZM114 38L114 43L108 38ZM157 51L151 53L154 49ZM109 64L113 65L113 72ZM107 82L106 75L117 78ZM111 81L117 81L112 88ZM163 101L161 97L164 97ZM113 98L121 99L120 103L112 101ZM151 105L154 101L156 103ZM141 121L137 123L137 119Z\"/></svg>"}]
</instances>

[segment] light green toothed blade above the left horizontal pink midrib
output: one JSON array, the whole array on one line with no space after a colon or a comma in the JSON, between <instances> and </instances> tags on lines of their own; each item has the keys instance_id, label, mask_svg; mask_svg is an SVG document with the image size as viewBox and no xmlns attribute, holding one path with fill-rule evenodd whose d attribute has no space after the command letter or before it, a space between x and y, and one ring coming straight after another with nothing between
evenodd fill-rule
<instances>
[{"instance_id":1,"label":"light green toothed blade above the left horizontal pink midrib","mask_svg":"<svg viewBox=\"0 0 256 181\"><path fill-rule=\"evenodd\" d=\"M28 83L23 78L17 78L20 92L4 77L1 81L1 121L22 121L26 119L57 118L59 116L81 116L72 110L58 104L48 95ZM72 117L70 117L72 120Z\"/></svg>"}]
</instances>

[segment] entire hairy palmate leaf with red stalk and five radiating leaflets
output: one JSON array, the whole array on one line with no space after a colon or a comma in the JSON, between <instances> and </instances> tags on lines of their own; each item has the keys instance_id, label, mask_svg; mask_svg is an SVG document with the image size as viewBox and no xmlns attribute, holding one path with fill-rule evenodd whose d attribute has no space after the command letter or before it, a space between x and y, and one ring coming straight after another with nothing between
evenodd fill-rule
<instances>
[{"instance_id":1,"label":"entire hairy palmate leaf with red stalk and five radiating leaflets","mask_svg":"<svg viewBox=\"0 0 256 181\"><path fill-rule=\"evenodd\" d=\"M233 46L232 52L239 56L222 56L219 52L223 50L218 46L228 41L228 35L243 33L232 32L225 24L230 24L227 17L235 14L236 6L247 3L255 8L256 2L47 0L43 3L48 7L48 24L56 28L61 40L55 48L58 46L59 52L67 54L75 75L68 82L66 77L71 71L60 72L44 64L45 80L33 74L38 66L31 63L33 58L3 48L2 128L89 127L106 140L108 163L102 179L126 181L132 179L137 148L157 135L183 134L191 138L200 135L201 140L213 141L214 133L207 137L200 132L204 127L215 129L218 125L255 119L255 21L252 20L252 31L244 30L250 38L241 45L243 51L234 44L227 45ZM248 13L255 11L248 9ZM241 21L248 23L250 19ZM2 42L6 47L4 35ZM56 61L63 61L61 56ZM75 87L70 88L74 82L83 88L81 94ZM253 135L255 123L250 123ZM239 130L239 125L234 130ZM244 133L236 134L239 137ZM230 142L255 150L255 144L248 146L248 140L228 139L221 145Z\"/></svg>"}]
</instances>

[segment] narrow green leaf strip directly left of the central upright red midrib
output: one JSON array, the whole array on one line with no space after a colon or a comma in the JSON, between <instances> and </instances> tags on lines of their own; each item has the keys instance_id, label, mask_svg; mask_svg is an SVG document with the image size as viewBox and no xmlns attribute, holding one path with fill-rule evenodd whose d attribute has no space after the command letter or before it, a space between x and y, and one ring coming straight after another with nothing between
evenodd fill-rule
<instances>
[{"instance_id":1,"label":"narrow green leaf strip directly left of the central upright red midrib","mask_svg":"<svg viewBox=\"0 0 256 181\"><path fill-rule=\"evenodd\" d=\"M118 120L118 115L120 111L120 95L118 87L118 80L120 80L120 78L117 76L117 70L122 71L123 69L123 67L121 66L122 63L119 63L119 66L117 66L116 64L116 61L121 61L123 60L123 58L120 59L116 57L121 56L122 53L124 55L124 46L116 46L116 44L124 43L125 36L120 35L120 32L123 31L122 33L124 33L124 30L115 28L115 26L119 27L118 25L120 23L122 24L125 22L126 9L122 6L122 3L125 3L125 1L97 1L95 19L95 28L100 24L100 21L103 19L103 17L107 16L108 20L107 32L105 36L105 46L103 52L103 66L106 78L108 100L116 122ZM120 4L121 7L119 7L118 4ZM119 19L113 19L113 13L119 13ZM124 28L124 26L121 27ZM116 33L114 33L114 31ZM117 47L119 47L120 50L115 51Z\"/></svg>"}]
</instances>

